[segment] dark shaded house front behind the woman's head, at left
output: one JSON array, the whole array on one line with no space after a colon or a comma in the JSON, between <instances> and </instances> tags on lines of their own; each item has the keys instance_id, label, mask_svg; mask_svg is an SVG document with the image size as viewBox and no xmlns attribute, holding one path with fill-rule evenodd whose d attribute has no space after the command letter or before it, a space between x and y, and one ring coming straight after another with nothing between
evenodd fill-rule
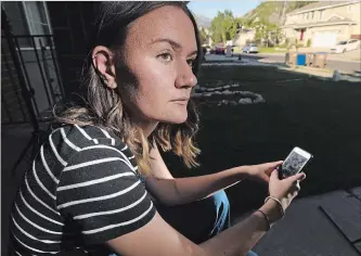
<instances>
[{"instance_id":1,"label":"dark shaded house front behind the woman's head, at left","mask_svg":"<svg viewBox=\"0 0 361 256\"><path fill-rule=\"evenodd\" d=\"M29 123L49 116L52 106L80 90L80 74L87 52L87 38L93 10L99 2L2 1L2 13L17 43L1 26L1 124ZM12 54L10 44L14 44ZM14 63L18 60L20 68ZM17 67L17 65L16 65ZM21 79L24 77L24 79ZM23 99L30 93L31 105Z\"/></svg>"}]
</instances>

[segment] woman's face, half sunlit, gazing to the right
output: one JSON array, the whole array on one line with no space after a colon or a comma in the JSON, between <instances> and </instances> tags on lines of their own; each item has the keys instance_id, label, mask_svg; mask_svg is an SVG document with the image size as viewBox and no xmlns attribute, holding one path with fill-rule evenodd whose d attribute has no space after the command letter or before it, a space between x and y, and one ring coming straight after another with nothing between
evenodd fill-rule
<instances>
[{"instance_id":1,"label":"woman's face, half sunlit, gazing to the right","mask_svg":"<svg viewBox=\"0 0 361 256\"><path fill-rule=\"evenodd\" d=\"M184 123L197 82L196 54L194 26L180 8L163 7L138 18L125 43L125 62L137 78L132 114L144 121Z\"/></svg>"}]
</instances>

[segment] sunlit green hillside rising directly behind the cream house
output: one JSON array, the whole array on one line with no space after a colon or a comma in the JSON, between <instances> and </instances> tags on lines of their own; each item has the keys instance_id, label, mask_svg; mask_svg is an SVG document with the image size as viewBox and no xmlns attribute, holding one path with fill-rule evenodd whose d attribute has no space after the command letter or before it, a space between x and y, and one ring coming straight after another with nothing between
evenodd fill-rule
<instances>
[{"instance_id":1,"label":"sunlit green hillside rising directly behind the cream house","mask_svg":"<svg viewBox=\"0 0 361 256\"><path fill-rule=\"evenodd\" d=\"M261 21L270 23L282 23L283 8L285 9L285 13L288 13L312 2L315 1L265 1L246 13L243 18L254 21L258 17Z\"/></svg>"}]
</instances>

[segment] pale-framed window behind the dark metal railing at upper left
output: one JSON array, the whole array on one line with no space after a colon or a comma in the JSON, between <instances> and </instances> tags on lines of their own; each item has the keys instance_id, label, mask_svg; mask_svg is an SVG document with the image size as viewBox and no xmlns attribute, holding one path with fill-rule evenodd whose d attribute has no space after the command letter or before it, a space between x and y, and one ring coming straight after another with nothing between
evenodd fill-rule
<instances>
[{"instance_id":1,"label":"pale-framed window behind the dark metal railing at upper left","mask_svg":"<svg viewBox=\"0 0 361 256\"><path fill-rule=\"evenodd\" d=\"M51 35L50 18L46 2L1 2L3 5L12 31L15 36L21 35ZM31 39L18 40L22 49L33 48ZM36 48L40 48L39 38L35 38ZM42 44L49 43L42 38Z\"/></svg>"}]
</instances>

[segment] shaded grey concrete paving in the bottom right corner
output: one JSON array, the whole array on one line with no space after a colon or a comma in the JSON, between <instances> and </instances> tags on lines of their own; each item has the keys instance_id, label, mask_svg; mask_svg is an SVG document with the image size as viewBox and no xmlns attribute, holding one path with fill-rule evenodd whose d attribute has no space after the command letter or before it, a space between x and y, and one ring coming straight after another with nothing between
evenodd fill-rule
<instances>
[{"instance_id":1,"label":"shaded grey concrete paving in the bottom right corner","mask_svg":"<svg viewBox=\"0 0 361 256\"><path fill-rule=\"evenodd\" d=\"M253 251L259 256L360 256L361 187L350 192L296 200Z\"/></svg>"}]
</instances>

